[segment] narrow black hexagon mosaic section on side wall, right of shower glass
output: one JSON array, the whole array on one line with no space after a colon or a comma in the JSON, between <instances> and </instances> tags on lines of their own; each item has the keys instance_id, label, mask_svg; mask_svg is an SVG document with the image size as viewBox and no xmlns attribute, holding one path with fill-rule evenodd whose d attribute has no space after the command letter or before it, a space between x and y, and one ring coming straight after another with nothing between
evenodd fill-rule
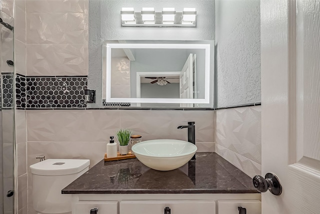
<instances>
[{"instance_id":1,"label":"narrow black hexagon mosaic section on side wall, right of shower glass","mask_svg":"<svg viewBox=\"0 0 320 214\"><path fill-rule=\"evenodd\" d=\"M15 76L15 104L17 108L25 108L26 77L20 74Z\"/></svg>"}]
</instances>

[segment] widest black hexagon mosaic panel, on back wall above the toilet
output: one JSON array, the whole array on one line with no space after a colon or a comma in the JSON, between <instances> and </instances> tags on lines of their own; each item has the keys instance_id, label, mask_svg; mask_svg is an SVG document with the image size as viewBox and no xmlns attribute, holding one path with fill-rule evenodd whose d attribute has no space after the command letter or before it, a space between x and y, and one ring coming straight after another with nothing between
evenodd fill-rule
<instances>
[{"instance_id":1,"label":"widest black hexagon mosaic panel, on back wall above the toilet","mask_svg":"<svg viewBox=\"0 0 320 214\"><path fill-rule=\"evenodd\" d=\"M85 108L87 77L26 77L26 108Z\"/></svg>"}]
</instances>

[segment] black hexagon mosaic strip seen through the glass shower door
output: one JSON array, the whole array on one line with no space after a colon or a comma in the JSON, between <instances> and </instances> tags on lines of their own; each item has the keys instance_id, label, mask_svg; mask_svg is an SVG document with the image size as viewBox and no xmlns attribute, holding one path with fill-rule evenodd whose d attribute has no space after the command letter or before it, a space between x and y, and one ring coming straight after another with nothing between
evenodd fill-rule
<instances>
[{"instance_id":1,"label":"black hexagon mosaic strip seen through the glass shower door","mask_svg":"<svg viewBox=\"0 0 320 214\"><path fill-rule=\"evenodd\" d=\"M2 108L12 108L12 98L13 98L13 73L2 73Z\"/></svg>"}]
</instances>

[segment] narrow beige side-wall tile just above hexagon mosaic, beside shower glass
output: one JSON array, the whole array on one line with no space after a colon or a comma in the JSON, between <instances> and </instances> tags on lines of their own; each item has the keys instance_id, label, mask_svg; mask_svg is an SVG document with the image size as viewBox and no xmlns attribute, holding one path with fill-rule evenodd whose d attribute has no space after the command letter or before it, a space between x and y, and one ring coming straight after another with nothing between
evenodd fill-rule
<instances>
[{"instance_id":1,"label":"narrow beige side-wall tile just above hexagon mosaic, beside shower glass","mask_svg":"<svg viewBox=\"0 0 320 214\"><path fill-rule=\"evenodd\" d=\"M25 70L25 52L26 52L26 48L25 48L25 43L20 42L19 40L15 40L15 63L14 63L14 67L15 67L15 71L18 74L23 74L26 75L26 70Z\"/></svg>"}]
</instances>

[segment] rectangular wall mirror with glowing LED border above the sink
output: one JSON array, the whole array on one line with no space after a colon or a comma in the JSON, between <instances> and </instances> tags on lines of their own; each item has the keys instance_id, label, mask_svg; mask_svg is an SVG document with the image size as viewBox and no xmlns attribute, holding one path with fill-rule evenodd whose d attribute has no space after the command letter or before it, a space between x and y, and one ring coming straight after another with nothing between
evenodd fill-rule
<instances>
[{"instance_id":1,"label":"rectangular wall mirror with glowing LED border above the sink","mask_svg":"<svg viewBox=\"0 0 320 214\"><path fill-rule=\"evenodd\" d=\"M120 106L212 107L213 41L105 41L102 100Z\"/></svg>"}]
</instances>

